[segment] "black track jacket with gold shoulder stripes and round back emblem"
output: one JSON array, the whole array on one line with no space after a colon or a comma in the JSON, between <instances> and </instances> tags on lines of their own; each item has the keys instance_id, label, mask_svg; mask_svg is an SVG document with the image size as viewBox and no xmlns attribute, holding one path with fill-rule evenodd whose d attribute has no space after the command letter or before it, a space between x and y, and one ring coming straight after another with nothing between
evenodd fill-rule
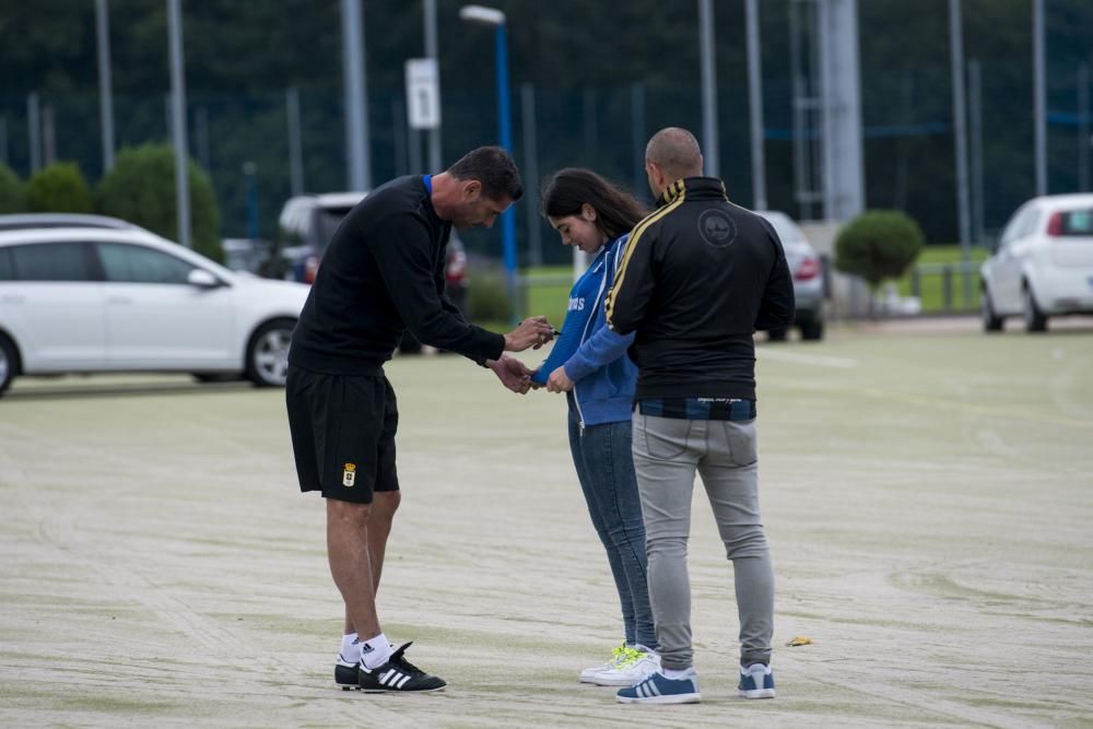
<instances>
[{"instance_id":1,"label":"black track jacket with gold shoulder stripes and round back emblem","mask_svg":"<svg viewBox=\"0 0 1093 729\"><path fill-rule=\"evenodd\" d=\"M794 320L794 282L771 224L712 177L673 183L630 235L608 324L636 331L635 398L755 399L756 329Z\"/></svg>"}]
</instances>

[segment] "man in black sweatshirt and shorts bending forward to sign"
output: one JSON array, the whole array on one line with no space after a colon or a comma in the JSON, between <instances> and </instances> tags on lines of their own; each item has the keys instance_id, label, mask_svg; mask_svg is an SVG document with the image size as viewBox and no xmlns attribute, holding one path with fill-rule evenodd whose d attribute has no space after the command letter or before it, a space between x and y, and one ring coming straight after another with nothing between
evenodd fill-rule
<instances>
[{"instance_id":1,"label":"man in black sweatshirt and shorts bending forward to sign","mask_svg":"<svg viewBox=\"0 0 1093 729\"><path fill-rule=\"evenodd\" d=\"M376 613L387 537L400 501L395 465L398 407L384 363L409 330L462 354L526 392L530 372L503 352L541 346L545 317L507 334L463 320L444 294L451 226L490 227L522 195L501 148L479 148L439 175L400 177L375 189L327 247L293 332L285 398L301 491L327 505L330 572L345 603L334 667L343 689L421 692L445 682L392 650Z\"/></svg>"}]
</instances>

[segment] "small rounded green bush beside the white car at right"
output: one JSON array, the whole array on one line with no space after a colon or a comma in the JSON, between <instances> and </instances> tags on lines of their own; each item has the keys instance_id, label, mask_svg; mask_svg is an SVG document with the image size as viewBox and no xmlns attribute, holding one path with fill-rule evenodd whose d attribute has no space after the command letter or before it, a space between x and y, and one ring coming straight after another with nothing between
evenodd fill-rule
<instances>
[{"instance_id":1,"label":"small rounded green bush beside the white car at right","mask_svg":"<svg viewBox=\"0 0 1093 729\"><path fill-rule=\"evenodd\" d=\"M897 210L858 215L835 238L835 268L865 279L873 291L885 279L902 277L925 245L922 231Z\"/></svg>"}]
</instances>

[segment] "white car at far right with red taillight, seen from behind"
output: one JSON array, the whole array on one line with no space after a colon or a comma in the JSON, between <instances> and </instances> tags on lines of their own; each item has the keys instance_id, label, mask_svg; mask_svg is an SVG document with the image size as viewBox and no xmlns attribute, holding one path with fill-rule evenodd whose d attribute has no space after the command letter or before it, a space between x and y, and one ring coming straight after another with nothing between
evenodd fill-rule
<instances>
[{"instance_id":1,"label":"white car at far right with red taillight, seen from behind","mask_svg":"<svg viewBox=\"0 0 1093 729\"><path fill-rule=\"evenodd\" d=\"M985 331L1001 331L1008 316L1023 317L1029 331L1045 331L1048 317L1093 314L1093 195L1051 195L1021 205L979 277Z\"/></svg>"}]
</instances>

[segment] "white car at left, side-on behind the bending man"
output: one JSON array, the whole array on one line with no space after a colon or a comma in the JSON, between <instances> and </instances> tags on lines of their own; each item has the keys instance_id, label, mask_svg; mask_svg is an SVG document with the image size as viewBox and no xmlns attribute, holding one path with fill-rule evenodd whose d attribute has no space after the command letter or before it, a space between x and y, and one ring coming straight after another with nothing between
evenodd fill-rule
<instances>
[{"instance_id":1,"label":"white car at left, side-on behind the bending man","mask_svg":"<svg viewBox=\"0 0 1093 729\"><path fill-rule=\"evenodd\" d=\"M16 375L104 372L283 386L308 290L140 228L0 232L0 392Z\"/></svg>"}]
</instances>

